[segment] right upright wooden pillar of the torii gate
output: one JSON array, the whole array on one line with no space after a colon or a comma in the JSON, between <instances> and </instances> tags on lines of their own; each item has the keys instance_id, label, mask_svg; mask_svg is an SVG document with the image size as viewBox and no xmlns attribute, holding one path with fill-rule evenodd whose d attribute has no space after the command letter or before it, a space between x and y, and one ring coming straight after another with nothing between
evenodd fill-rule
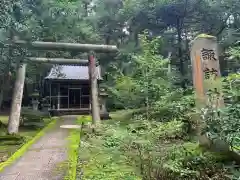
<instances>
[{"instance_id":1,"label":"right upright wooden pillar of the torii gate","mask_svg":"<svg viewBox=\"0 0 240 180\"><path fill-rule=\"evenodd\" d=\"M96 71L96 59L94 57L93 52L89 53L89 81L91 88L91 113L92 113L92 123L98 124L100 123L100 110L99 110L99 102L98 102L98 85L97 85L97 71Z\"/></svg>"}]
</instances>

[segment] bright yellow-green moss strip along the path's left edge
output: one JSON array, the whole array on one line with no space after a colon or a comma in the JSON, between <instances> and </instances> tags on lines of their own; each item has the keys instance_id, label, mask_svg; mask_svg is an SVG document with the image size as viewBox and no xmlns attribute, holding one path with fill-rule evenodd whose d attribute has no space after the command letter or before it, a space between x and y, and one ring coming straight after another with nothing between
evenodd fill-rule
<instances>
[{"instance_id":1,"label":"bright yellow-green moss strip along the path's left edge","mask_svg":"<svg viewBox=\"0 0 240 180\"><path fill-rule=\"evenodd\" d=\"M7 161L0 164L0 172L4 170L6 166L11 165L18 158L20 158L28 148L34 144L40 137L42 137L46 131L51 129L56 124L57 119L51 121L45 128L43 128L33 139L24 144L18 151L16 151Z\"/></svg>"}]
</instances>

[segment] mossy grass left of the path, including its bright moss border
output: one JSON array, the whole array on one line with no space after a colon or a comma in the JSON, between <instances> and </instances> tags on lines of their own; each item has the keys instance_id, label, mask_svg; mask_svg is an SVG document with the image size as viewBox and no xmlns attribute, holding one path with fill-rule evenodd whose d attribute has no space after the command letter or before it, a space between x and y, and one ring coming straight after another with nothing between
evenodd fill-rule
<instances>
[{"instance_id":1,"label":"mossy grass left of the path, including its bright moss border","mask_svg":"<svg viewBox=\"0 0 240 180\"><path fill-rule=\"evenodd\" d=\"M7 125L8 116L0 116L0 121ZM44 124L49 124L51 120L49 118L44 119ZM52 121L47 127L52 126L56 120ZM19 133L16 139L1 140L0 142L0 170L2 170L7 164L14 161L16 158L20 157L26 149L33 144L39 137L41 137L45 128L19 128ZM2 128L0 132L0 137L6 136L6 129ZM22 138L20 138L22 137ZM21 139L21 140L18 140ZM9 160L10 158L10 160Z\"/></svg>"}]
</instances>

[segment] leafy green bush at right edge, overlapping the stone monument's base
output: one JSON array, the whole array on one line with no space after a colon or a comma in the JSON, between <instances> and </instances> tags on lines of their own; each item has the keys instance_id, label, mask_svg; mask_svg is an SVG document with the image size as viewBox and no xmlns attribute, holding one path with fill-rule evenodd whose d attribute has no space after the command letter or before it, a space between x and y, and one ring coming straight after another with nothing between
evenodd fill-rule
<instances>
[{"instance_id":1,"label":"leafy green bush at right edge, overlapping the stone monument's base","mask_svg":"<svg viewBox=\"0 0 240 180\"><path fill-rule=\"evenodd\" d=\"M233 149L240 146L239 136L239 95L240 84L239 74L229 75L224 79L224 97L225 107L216 109L214 107L214 99L216 97L213 93L209 94L210 104L203 111L203 118L206 121L206 129L209 136L213 139L220 138L227 142Z\"/></svg>"}]
</instances>

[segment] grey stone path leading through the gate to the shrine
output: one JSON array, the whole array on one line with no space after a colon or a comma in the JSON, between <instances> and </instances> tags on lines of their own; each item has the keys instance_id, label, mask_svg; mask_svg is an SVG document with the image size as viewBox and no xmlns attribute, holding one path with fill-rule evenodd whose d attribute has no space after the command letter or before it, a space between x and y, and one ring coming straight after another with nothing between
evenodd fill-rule
<instances>
[{"instance_id":1,"label":"grey stone path leading through the gate to the shrine","mask_svg":"<svg viewBox=\"0 0 240 180\"><path fill-rule=\"evenodd\" d=\"M74 124L76 116L63 116L62 119L20 159L6 167L0 173L0 180L63 180L61 166L67 160L69 130L60 126Z\"/></svg>"}]
</instances>

